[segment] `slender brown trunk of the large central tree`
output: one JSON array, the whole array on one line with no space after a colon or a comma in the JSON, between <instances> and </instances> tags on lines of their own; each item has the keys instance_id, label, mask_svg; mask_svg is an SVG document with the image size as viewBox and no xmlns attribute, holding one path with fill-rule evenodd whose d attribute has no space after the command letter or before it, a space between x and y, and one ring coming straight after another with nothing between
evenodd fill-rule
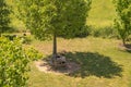
<instances>
[{"instance_id":1,"label":"slender brown trunk of the large central tree","mask_svg":"<svg viewBox=\"0 0 131 87\"><path fill-rule=\"evenodd\" d=\"M57 36L53 34L53 46L52 46L52 62L55 63L57 59Z\"/></svg>"}]
</instances>

